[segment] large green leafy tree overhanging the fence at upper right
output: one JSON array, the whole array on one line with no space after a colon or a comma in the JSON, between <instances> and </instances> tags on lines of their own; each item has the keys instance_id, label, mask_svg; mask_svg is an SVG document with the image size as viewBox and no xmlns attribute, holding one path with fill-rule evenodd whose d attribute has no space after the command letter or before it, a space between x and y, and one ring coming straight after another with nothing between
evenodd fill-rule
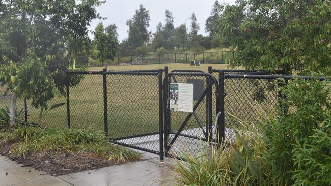
<instances>
[{"instance_id":1,"label":"large green leafy tree overhanging the fence at upper right","mask_svg":"<svg viewBox=\"0 0 331 186\"><path fill-rule=\"evenodd\" d=\"M242 0L225 4L222 10L219 35L237 50L232 64L287 74L301 68L329 68L329 0Z\"/></svg>"}]
</instances>

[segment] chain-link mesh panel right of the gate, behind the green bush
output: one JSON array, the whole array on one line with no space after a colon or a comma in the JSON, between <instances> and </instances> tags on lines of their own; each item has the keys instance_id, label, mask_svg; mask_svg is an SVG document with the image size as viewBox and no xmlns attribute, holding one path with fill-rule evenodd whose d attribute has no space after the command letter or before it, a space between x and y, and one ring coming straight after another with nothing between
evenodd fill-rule
<instances>
[{"instance_id":1,"label":"chain-link mesh panel right of the gate, behind the green bush","mask_svg":"<svg viewBox=\"0 0 331 186\"><path fill-rule=\"evenodd\" d=\"M263 113L274 114L279 99L277 80L226 78L224 84L226 141L234 140L233 129L240 129L240 122L257 123Z\"/></svg>"}]
</instances>

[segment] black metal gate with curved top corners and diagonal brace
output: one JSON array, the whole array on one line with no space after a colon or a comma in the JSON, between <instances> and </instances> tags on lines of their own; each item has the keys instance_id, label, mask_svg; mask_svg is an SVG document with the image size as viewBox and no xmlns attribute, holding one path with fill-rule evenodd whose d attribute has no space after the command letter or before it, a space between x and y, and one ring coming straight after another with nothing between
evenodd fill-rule
<instances>
[{"instance_id":1,"label":"black metal gate with curved top corners and diagonal brace","mask_svg":"<svg viewBox=\"0 0 331 186\"><path fill-rule=\"evenodd\" d=\"M170 110L170 83L193 84L192 113ZM218 126L218 121L213 125L219 112L218 91L216 78L203 71L174 70L166 75L163 82L166 157L180 158L182 152L199 156L206 145L224 138L224 127Z\"/></svg>"}]
</instances>

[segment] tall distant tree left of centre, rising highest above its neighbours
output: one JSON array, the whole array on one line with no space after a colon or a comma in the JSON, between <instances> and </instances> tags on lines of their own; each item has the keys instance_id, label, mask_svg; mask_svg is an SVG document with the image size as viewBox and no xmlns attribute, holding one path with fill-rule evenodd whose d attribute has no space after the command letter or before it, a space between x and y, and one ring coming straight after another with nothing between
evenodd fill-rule
<instances>
[{"instance_id":1,"label":"tall distant tree left of centre, rising highest above its neighbours","mask_svg":"<svg viewBox=\"0 0 331 186\"><path fill-rule=\"evenodd\" d=\"M147 30L149 21L149 11L141 4L133 18L126 22L126 25L129 26L128 42L134 48L144 45L149 40L150 32Z\"/></svg>"}]
</instances>

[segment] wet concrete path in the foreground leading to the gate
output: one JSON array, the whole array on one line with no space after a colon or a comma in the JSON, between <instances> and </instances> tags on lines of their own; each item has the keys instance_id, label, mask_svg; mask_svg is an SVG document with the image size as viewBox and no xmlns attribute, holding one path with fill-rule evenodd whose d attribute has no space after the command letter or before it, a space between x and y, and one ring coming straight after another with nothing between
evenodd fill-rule
<instances>
[{"instance_id":1,"label":"wet concrete path in the foreground leading to the gate","mask_svg":"<svg viewBox=\"0 0 331 186\"><path fill-rule=\"evenodd\" d=\"M140 151L141 152L141 151ZM160 185L171 172L161 166L159 157L147 152L142 153L142 161L130 162L118 166L104 167L97 170L73 173L63 176L50 176L32 167L21 167L15 161L0 156L0 185Z\"/></svg>"}]
</instances>

